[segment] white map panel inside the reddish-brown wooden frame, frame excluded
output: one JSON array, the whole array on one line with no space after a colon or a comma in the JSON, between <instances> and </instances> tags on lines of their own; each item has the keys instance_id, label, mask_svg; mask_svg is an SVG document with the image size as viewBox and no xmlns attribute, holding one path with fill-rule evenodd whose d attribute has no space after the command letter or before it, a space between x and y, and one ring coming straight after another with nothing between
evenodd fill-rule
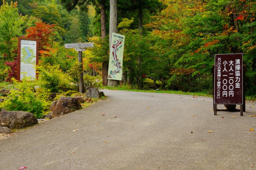
<instances>
[{"instance_id":1,"label":"white map panel inside the reddish-brown wooden frame, frame excluded","mask_svg":"<svg viewBox=\"0 0 256 170\"><path fill-rule=\"evenodd\" d=\"M36 78L36 41L20 40L20 80Z\"/></svg>"}]
</instances>

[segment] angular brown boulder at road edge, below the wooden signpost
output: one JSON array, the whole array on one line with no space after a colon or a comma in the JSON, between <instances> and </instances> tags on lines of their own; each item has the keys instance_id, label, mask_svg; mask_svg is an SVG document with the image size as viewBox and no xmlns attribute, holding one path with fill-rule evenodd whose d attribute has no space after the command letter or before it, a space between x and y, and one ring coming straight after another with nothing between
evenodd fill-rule
<instances>
[{"instance_id":1,"label":"angular brown boulder at road edge, below the wooden signpost","mask_svg":"<svg viewBox=\"0 0 256 170\"><path fill-rule=\"evenodd\" d=\"M76 98L60 97L53 110L52 118L66 115L79 109L82 109L82 106Z\"/></svg>"}]
</instances>

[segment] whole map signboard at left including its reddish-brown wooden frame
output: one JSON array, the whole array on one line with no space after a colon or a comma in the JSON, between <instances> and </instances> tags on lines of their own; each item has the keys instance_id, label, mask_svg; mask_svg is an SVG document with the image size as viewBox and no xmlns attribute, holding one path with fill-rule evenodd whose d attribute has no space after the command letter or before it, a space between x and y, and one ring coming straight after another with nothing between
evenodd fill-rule
<instances>
[{"instance_id":1,"label":"whole map signboard at left including its reddish-brown wooden frame","mask_svg":"<svg viewBox=\"0 0 256 170\"><path fill-rule=\"evenodd\" d=\"M38 47L38 39L18 38L18 80L22 80L25 76L30 80L36 79Z\"/></svg>"}]
</instances>

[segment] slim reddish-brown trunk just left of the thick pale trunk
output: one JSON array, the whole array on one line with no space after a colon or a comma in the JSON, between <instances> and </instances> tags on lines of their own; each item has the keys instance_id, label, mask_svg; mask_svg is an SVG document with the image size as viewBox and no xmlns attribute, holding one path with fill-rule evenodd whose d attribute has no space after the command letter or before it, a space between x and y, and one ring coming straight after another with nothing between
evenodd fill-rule
<instances>
[{"instance_id":1,"label":"slim reddish-brown trunk just left of the thick pale trunk","mask_svg":"<svg viewBox=\"0 0 256 170\"><path fill-rule=\"evenodd\" d=\"M107 35L106 31L106 8L105 8L105 1L102 0L100 2L100 23L101 23L101 40L104 40L104 38ZM103 85L108 84L108 61L102 60L102 80Z\"/></svg>"}]
</instances>

